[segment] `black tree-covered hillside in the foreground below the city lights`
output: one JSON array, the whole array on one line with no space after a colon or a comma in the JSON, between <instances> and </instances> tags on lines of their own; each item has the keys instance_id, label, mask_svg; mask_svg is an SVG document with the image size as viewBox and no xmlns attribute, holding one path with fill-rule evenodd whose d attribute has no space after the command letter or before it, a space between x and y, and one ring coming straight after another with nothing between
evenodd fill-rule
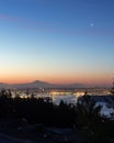
<instances>
[{"instance_id":1,"label":"black tree-covered hillside in the foreground below the city lights","mask_svg":"<svg viewBox=\"0 0 114 143\"><path fill-rule=\"evenodd\" d=\"M114 114L102 117L101 108L87 92L77 105L56 106L50 98L12 98L1 90L0 131L36 142L113 143Z\"/></svg>"}]
</instances>

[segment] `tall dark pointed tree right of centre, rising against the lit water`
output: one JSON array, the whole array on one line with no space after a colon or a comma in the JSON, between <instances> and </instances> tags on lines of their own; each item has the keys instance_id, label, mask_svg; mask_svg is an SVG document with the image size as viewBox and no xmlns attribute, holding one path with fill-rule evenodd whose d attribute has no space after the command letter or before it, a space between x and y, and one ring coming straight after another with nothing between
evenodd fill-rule
<instances>
[{"instance_id":1,"label":"tall dark pointed tree right of centre, rising against the lit water","mask_svg":"<svg viewBox=\"0 0 114 143\"><path fill-rule=\"evenodd\" d=\"M86 143L94 143L101 140L101 106L86 91L83 97L80 97L77 103L77 123ZM99 142L98 141L98 142Z\"/></svg>"}]
</instances>

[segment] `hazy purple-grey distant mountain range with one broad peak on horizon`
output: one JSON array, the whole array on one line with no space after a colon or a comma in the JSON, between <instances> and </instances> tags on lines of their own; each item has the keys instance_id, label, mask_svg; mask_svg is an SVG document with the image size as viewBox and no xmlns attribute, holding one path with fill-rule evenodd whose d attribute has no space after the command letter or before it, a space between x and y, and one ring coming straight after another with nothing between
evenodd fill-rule
<instances>
[{"instance_id":1,"label":"hazy purple-grey distant mountain range with one broad peak on horizon","mask_svg":"<svg viewBox=\"0 0 114 143\"><path fill-rule=\"evenodd\" d=\"M0 88L83 88L84 85L82 84L64 84L64 85L56 85L49 84L46 81L35 80L33 82L25 82L25 84L4 84L0 82Z\"/></svg>"}]
</instances>

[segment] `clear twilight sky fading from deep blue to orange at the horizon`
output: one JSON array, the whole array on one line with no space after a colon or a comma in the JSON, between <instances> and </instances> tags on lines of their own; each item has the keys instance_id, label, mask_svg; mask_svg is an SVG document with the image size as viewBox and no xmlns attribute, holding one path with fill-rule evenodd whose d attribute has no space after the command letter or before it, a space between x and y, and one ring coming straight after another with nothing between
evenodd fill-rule
<instances>
[{"instance_id":1,"label":"clear twilight sky fading from deep blue to orange at the horizon","mask_svg":"<svg viewBox=\"0 0 114 143\"><path fill-rule=\"evenodd\" d=\"M113 77L114 0L0 0L0 82Z\"/></svg>"}]
</instances>

